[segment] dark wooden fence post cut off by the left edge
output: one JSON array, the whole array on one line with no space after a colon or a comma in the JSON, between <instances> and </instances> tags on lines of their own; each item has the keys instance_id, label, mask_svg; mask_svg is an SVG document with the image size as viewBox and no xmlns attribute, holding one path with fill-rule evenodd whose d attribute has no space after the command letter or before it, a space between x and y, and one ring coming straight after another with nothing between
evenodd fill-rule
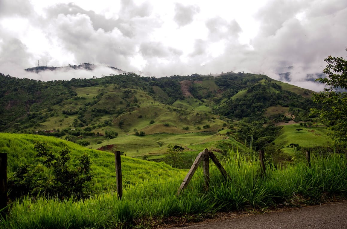
<instances>
[{"instance_id":1,"label":"dark wooden fence post cut off by the left edge","mask_svg":"<svg viewBox=\"0 0 347 229\"><path fill-rule=\"evenodd\" d=\"M6 217L5 208L7 207L7 154L0 154L0 210L1 216Z\"/></svg>"}]
</instances>

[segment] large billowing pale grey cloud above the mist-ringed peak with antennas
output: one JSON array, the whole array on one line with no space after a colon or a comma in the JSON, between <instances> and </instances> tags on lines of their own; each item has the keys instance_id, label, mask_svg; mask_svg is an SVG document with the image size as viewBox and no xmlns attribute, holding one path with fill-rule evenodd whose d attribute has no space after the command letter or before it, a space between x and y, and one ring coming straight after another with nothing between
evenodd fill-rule
<instances>
[{"instance_id":1,"label":"large billowing pale grey cloud above the mist-ringed peak with antennas","mask_svg":"<svg viewBox=\"0 0 347 229\"><path fill-rule=\"evenodd\" d=\"M60 43L74 54L77 62L128 66L128 56L135 52L133 40L123 36L117 28L108 33L102 29L95 31L86 15L59 15L55 32Z\"/></svg>"}]
</instances>

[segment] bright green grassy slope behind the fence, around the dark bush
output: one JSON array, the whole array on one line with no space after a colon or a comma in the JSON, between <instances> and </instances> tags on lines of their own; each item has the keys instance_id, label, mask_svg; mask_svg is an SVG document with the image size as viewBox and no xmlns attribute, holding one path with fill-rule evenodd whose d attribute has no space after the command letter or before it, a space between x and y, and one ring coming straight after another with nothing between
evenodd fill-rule
<instances>
[{"instance_id":1,"label":"bright green grassy slope behind the fence, around the dark bush","mask_svg":"<svg viewBox=\"0 0 347 229\"><path fill-rule=\"evenodd\" d=\"M84 148L80 145L71 143L66 140L61 140L54 137L45 137L40 135L29 134L4 134L0 133L0 149L2 153L8 155L8 174L12 174L20 165L27 163L35 164L33 160L34 143L33 141L42 141L52 147L52 152L59 152L63 147L70 149L72 157L78 157L83 153L87 153L92 161L93 187L96 191L113 189L116 184L115 177L115 156L112 153L99 151L95 149ZM151 162L137 160L136 158L121 156L122 160L122 173L135 174L143 173L141 176L127 175L124 176L125 181L130 181L132 184L142 183L143 180L149 179L153 174L148 173L152 171L162 171L156 173L161 177L184 177L185 171L177 170L165 172L163 170L172 170L172 167L161 162ZM71 162L74 164L74 161ZM110 178L105 178L111 176ZM103 178L104 177L104 178Z\"/></svg>"}]
</instances>

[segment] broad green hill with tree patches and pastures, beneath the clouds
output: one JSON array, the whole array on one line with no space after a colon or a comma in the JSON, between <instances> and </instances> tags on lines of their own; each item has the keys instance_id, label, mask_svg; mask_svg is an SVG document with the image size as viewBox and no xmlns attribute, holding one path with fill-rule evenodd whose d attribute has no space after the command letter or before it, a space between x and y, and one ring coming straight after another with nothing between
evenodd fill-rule
<instances>
[{"instance_id":1,"label":"broad green hill with tree patches and pastures, beneath the clouds","mask_svg":"<svg viewBox=\"0 0 347 229\"><path fill-rule=\"evenodd\" d=\"M49 82L0 74L0 83L1 132L54 136L91 149L114 145L157 161L165 161L167 144L182 145L189 148L184 167L203 150L200 144L224 153L229 146L258 150L276 139L277 124L313 122L309 108L316 106L310 90L248 73Z\"/></svg>"}]
</instances>

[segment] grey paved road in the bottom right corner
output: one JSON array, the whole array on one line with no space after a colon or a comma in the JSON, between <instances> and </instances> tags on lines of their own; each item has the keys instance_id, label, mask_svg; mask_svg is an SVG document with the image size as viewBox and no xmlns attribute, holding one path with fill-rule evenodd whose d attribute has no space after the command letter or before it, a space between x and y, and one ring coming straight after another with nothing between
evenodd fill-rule
<instances>
[{"instance_id":1,"label":"grey paved road in the bottom right corner","mask_svg":"<svg viewBox=\"0 0 347 229\"><path fill-rule=\"evenodd\" d=\"M347 202L322 204L312 207L209 220L181 229L346 229Z\"/></svg>"}]
</instances>

